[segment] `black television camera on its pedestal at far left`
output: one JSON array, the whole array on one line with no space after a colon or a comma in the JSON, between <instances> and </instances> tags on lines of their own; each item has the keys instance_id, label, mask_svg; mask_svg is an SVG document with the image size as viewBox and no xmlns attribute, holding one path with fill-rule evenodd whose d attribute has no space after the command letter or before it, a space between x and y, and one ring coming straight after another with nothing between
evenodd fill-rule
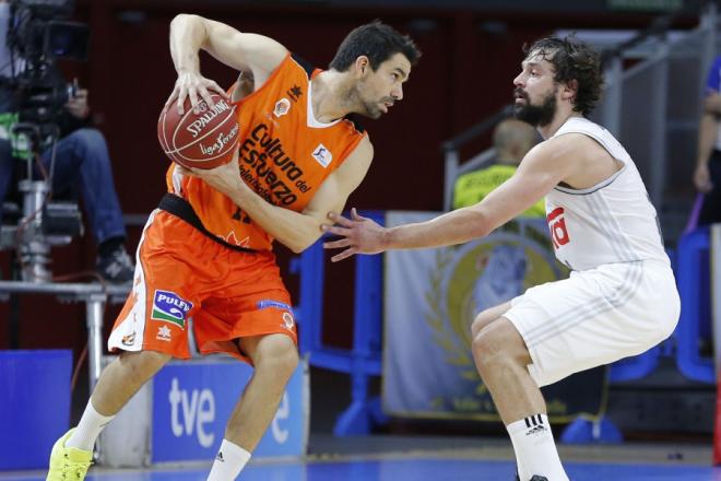
<instances>
[{"instance_id":1,"label":"black television camera on its pedestal at far left","mask_svg":"<svg viewBox=\"0 0 721 481\"><path fill-rule=\"evenodd\" d=\"M78 91L76 83L62 79L56 62L87 57L90 28L63 20L73 7L73 0L10 2L7 48L11 67L0 89L11 93L16 117L8 133L14 162L23 166L16 169L21 204L3 204L0 249L15 249L24 281L49 280L50 247L69 244L82 234L78 203L50 201L55 154L49 168L39 163L43 151L55 152L58 116Z\"/></svg>"}]
</instances>

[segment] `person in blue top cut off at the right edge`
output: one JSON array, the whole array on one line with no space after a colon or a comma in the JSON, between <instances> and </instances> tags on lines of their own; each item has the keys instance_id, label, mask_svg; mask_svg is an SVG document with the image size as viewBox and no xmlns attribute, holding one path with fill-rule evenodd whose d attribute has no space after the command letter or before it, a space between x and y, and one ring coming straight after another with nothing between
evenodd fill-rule
<instances>
[{"instance_id":1,"label":"person in blue top cut off at the right edge","mask_svg":"<svg viewBox=\"0 0 721 481\"><path fill-rule=\"evenodd\" d=\"M698 126L698 157L694 185L704 193L698 225L721 222L721 56L717 57L706 82L701 120Z\"/></svg>"}]
</instances>

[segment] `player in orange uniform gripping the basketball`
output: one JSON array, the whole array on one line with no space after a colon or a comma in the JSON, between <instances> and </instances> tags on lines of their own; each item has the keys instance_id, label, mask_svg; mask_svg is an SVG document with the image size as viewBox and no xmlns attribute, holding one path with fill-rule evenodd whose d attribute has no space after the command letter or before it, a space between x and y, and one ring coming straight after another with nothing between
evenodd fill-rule
<instances>
[{"instance_id":1,"label":"player in orange uniform gripping the basketball","mask_svg":"<svg viewBox=\"0 0 721 481\"><path fill-rule=\"evenodd\" d=\"M247 96L241 89L229 94L240 127L237 156L199 176L168 169L168 193L145 226L133 291L108 341L120 355L79 425L56 443L48 480L84 479L103 427L165 363L190 356L190 317L201 353L255 367L208 479L238 476L298 362L272 242L300 253L320 237L327 212L343 208L373 157L368 136L346 116L387 113L403 98L421 55L409 37L376 21L351 32L321 71L272 38L182 14L170 24L178 80L166 108L182 112L188 97L193 108L201 98L212 104L211 91L225 95L201 75L200 49L253 80Z\"/></svg>"}]
</instances>

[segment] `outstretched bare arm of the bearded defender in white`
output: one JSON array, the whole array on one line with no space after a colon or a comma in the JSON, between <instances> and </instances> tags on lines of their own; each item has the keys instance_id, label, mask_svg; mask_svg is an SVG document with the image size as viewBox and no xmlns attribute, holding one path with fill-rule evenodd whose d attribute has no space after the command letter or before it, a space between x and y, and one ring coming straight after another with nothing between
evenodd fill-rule
<instances>
[{"instance_id":1,"label":"outstretched bare arm of the bearded defender in white","mask_svg":"<svg viewBox=\"0 0 721 481\"><path fill-rule=\"evenodd\" d=\"M345 248L332 257L336 262L354 254L440 247L484 237L533 206L562 181L575 188L586 188L613 175L618 166L607 154L606 162L594 162L604 152L595 141L581 134L551 139L531 150L516 174L475 206L426 222L391 228L357 214L345 219L330 213L329 219L336 225L323 228L342 238L323 246Z\"/></svg>"}]
</instances>

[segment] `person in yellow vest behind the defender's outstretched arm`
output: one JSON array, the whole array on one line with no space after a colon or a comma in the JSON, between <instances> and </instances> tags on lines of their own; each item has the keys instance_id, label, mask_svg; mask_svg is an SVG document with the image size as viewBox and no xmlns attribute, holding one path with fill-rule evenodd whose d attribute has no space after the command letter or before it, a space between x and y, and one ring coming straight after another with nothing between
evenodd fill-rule
<instances>
[{"instance_id":1,"label":"person in yellow vest behind the defender's outstretched arm","mask_svg":"<svg viewBox=\"0 0 721 481\"><path fill-rule=\"evenodd\" d=\"M478 203L496 187L511 178L521 159L539 143L539 133L529 124L515 118L500 121L493 132L496 157L492 165L461 175L453 188L453 209ZM543 199L529 208L521 216L546 215Z\"/></svg>"}]
</instances>

